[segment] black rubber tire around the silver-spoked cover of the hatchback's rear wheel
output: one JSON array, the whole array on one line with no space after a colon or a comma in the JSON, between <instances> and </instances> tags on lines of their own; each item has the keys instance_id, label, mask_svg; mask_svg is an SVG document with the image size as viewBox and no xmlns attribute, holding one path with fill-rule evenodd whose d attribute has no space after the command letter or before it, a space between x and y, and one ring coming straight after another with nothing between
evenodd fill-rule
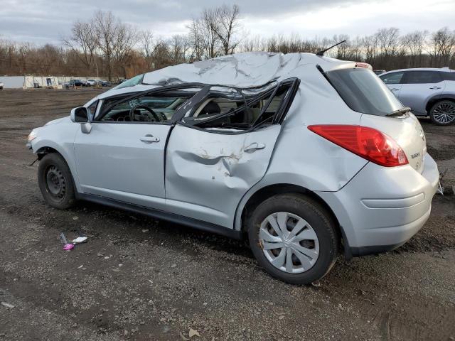
<instances>
[{"instance_id":1,"label":"black rubber tire around the silver-spoked cover of the hatchback's rear wheel","mask_svg":"<svg viewBox=\"0 0 455 341\"><path fill-rule=\"evenodd\" d=\"M300 274L291 274L272 265L262 250L259 229L262 222L276 212L289 212L306 220L319 239L319 256L314 265ZM331 215L318 202L307 195L279 194L265 200L256 207L247 219L250 247L264 269L281 281L291 284L309 284L325 276L335 264L339 240L336 224Z\"/></svg>"}]
</instances>

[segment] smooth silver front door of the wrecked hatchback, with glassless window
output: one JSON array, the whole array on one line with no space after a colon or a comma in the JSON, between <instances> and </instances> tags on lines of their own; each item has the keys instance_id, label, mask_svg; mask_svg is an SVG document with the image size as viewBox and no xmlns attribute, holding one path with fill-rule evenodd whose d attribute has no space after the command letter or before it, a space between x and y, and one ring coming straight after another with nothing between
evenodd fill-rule
<instances>
[{"instance_id":1,"label":"smooth silver front door of the wrecked hatchback, with glassless window","mask_svg":"<svg viewBox=\"0 0 455 341\"><path fill-rule=\"evenodd\" d=\"M75 137L82 191L164 209L166 141L178 110L195 92L152 90L106 99L90 133L78 131Z\"/></svg>"}]
</instances>

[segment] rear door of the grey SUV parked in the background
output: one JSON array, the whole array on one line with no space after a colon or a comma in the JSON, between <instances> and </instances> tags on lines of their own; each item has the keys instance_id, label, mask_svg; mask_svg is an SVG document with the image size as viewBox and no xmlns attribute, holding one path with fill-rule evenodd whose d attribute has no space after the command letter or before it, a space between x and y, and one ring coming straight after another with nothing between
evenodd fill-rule
<instances>
[{"instance_id":1,"label":"rear door of the grey SUV parked in the background","mask_svg":"<svg viewBox=\"0 0 455 341\"><path fill-rule=\"evenodd\" d=\"M426 105L430 98L442 94L445 83L440 72L413 70L405 72L399 98L415 114L427 114Z\"/></svg>"}]
</instances>

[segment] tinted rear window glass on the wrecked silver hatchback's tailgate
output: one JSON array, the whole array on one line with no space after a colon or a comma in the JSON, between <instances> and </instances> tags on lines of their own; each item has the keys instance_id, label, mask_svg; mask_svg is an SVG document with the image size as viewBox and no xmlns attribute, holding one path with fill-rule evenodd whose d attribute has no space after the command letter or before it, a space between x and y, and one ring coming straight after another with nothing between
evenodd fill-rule
<instances>
[{"instance_id":1,"label":"tinted rear window glass on the wrecked silver hatchback's tailgate","mask_svg":"<svg viewBox=\"0 0 455 341\"><path fill-rule=\"evenodd\" d=\"M365 68L326 72L335 90L350 109L363 114L385 116L403 104L373 71Z\"/></svg>"}]
</instances>

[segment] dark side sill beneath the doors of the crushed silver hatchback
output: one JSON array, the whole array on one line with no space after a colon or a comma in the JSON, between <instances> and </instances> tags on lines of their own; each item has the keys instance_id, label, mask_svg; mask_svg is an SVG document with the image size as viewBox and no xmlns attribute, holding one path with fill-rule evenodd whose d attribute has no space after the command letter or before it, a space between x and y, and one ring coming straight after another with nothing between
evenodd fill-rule
<instances>
[{"instance_id":1,"label":"dark side sill beneath the doors of the crushed silver hatchback","mask_svg":"<svg viewBox=\"0 0 455 341\"><path fill-rule=\"evenodd\" d=\"M148 215L149 217L154 217L159 220L167 220L168 222L186 225L189 227L193 227L195 229L200 229L205 232L220 234L222 236L229 237L232 239L242 239L242 233L240 231L236 231L235 229L228 229L228 227L223 227L221 225L213 224L211 222L204 222L203 220L197 220L190 217L185 217L183 215L176 215L174 213L169 213L162 210L154 210L153 208L150 207L129 204L128 202L109 199L107 197L101 197L100 195L77 193L76 197L78 200L86 200L90 202L95 202L96 204L118 208L120 210L135 212L141 215Z\"/></svg>"}]
</instances>

